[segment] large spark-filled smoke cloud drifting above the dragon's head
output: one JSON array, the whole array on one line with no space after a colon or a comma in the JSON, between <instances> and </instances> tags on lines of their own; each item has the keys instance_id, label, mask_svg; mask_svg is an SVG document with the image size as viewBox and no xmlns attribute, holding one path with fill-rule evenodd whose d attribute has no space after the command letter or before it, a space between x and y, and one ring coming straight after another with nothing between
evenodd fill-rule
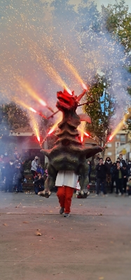
<instances>
[{"instance_id":1,"label":"large spark-filled smoke cloud drifting above the dragon's head","mask_svg":"<svg viewBox=\"0 0 131 280\"><path fill-rule=\"evenodd\" d=\"M81 1L75 10L69 1L60 0L1 3L1 104L16 102L28 112L26 104L48 117L50 111L36 96L55 111L56 92L64 85L77 95L82 91L80 80L91 84L96 73L104 73L118 104L118 123L130 106L130 76L123 68L127 57L118 42L95 28L95 4Z\"/></svg>"}]
</instances>

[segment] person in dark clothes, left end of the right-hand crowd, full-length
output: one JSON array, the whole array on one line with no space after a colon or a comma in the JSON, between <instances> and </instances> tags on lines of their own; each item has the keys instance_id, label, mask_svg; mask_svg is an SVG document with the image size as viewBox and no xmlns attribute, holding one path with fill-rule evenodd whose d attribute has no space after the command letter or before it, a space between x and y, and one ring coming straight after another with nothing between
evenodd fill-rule
<instances>
[{"instance_id":1,"label":"person in dark clothes, left end of the right-hand crowd, full-length","mask_svg":"<svg viewBox=\"0 0 131 280\"><path fill-rule=\"evenodd\" d=\"M103 187L103 193L106 195L106 171L107 167L104 165L103 158L99 158L99 164L96 166L96 174L97 174L97 186L96 190L97 193L96 195L99 195L99 187L102 185Z\"/></svg>"}]
</instances>

